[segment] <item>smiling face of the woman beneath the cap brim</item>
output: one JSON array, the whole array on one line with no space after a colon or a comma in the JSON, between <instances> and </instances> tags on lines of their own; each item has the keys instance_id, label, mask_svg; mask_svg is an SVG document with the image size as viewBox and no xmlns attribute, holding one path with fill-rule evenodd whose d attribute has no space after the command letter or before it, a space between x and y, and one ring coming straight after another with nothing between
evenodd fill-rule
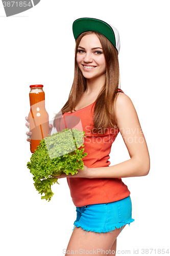
<instances>
[{"instance_id":1,"label":"smiling face of the woman beneath the cap brim","mask_svg":"<svg viewBox=\"0 0 170 256\"><path fill-rule=\"evenodd\" d=\"M87 34L80 40L77 64L87 79L106 76L106 60L96 34Z\"/></svg>"}]
</instances>

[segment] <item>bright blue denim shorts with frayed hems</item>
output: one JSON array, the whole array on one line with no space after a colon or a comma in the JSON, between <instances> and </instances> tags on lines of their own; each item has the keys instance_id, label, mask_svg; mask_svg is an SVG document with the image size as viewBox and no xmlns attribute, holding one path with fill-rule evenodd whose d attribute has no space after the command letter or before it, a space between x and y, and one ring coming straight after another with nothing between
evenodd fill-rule
<instances>
[{"instance_id":1,"label":"bright blue denim shorts with frayed hems","mask_svg":"<svg viewBox=\"0 0 170 256\"><path fill-rule=\"evenodd\" d=\"M121 227L123 229L123 226L134 221L130 196L112 203L76 207L76 211L77 219L74 225L97 233L111 232Z\"/></svg>"}]
</instances>

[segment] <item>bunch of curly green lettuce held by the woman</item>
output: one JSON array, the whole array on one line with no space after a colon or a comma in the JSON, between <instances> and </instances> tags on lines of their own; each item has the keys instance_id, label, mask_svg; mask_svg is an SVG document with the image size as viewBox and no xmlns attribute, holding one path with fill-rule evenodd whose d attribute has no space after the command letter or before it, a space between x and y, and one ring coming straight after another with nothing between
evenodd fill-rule
<instances>
[{"instance_id":1,"label":"bunch of curly green lettuce held by the woman","mask_svg":"<svg viewBox=\"0 0 170 256\"><path fill-rule=\"evenodd\" d=\"M82 159L87 153L83 153L84 148L79 147L84 146L84 137L85 133L77 129L65 129L40 141L27 167L33 175L36 190L41 195L45 194L41 199L49 202L54 195L51 186L58 183L58 178L52 175L74 175L78 173L77 169L83 169Z\"/></svg>"}]
</instances>

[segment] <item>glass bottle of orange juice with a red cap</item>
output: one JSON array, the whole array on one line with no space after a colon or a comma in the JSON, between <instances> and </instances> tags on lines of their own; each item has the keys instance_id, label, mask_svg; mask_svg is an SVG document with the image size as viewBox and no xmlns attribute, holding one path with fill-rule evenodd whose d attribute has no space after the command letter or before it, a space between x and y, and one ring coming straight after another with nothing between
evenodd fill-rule
<instances>
[{"instance_id":1,"label":"glass bottle of orange juice with a red cap","mask_svg":"<svg viewBox=\"0 0 170 256\"><path fill-rule=\"evenodd\" d=\"M29 122L30 122L30 132L31 141L30 141L30 150L31 153L34 153L39 145L40 140L47 137L49 132L49 120L48 113L45 110L45 93L43 91L42 84L35 84L30 86L30 113L29 113Z\"/></svg>"}]
</instances>

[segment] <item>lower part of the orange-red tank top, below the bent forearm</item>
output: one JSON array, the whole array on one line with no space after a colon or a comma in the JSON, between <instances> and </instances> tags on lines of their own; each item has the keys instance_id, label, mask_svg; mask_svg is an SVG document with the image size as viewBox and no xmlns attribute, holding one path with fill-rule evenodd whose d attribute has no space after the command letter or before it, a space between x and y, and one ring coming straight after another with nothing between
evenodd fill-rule
<instances>
[{"instance_id":1,"label":"lower part of the orange-red tank top, below the bent forearm","mask_svg":"<svg viewBox=\"0 0 170 256\"><path fill-rule=\"evenodd\" d=\"M130 195L120 178L67 178L67 183L72 201L78 207L114 202Z\"/></svg>"}]
</instances>

